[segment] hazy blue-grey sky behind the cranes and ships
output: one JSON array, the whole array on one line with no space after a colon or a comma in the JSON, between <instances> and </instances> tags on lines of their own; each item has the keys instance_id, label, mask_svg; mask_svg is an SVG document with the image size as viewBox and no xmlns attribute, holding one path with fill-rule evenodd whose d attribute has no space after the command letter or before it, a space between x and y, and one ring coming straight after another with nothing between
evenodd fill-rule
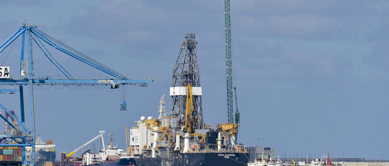
<instances>
[{"instance_id":1,"label":"hazy blue-grey sky behind the cranes and ships","mask_svg":"<svg viewBox=\"0 0 389 166\"><path fill-rule=\"evenodd\" d=\"M280 155L309 150L317 157L331 150L343 157L344 150L344 157L367 159L369 150L370 159L381 159L382 150L389 159L388 9L380 0L231 0L239 142L276 147ZM119 73L154 79L147 87L128 86L124 112L120 90L36 88L36 134L53 140L57 159L100 130L114 133L114 144L124 149L125 126L156 116L162 94L170 110L171 72L185 32L196 33L198 41L204 121L226 122L221 0L9 0L2 1L0 15L1 43L27 19ZM49 50L73 76L108 76ZM20 39L0 53L12 76L18 76L19 59ZM63 76L39 48L33 59L35 76ZM0 99L19 116L19 95Z\"/></svg>"}]
</instances>

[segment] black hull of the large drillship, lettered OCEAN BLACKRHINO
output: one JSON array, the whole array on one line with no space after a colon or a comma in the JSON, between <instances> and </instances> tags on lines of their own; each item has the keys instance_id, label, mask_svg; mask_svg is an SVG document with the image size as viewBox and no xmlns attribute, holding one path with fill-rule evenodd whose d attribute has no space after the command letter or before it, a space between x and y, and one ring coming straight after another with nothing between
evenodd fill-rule
<instances>
[{"instance_id":1,"label":"black hull of the large drillship, lettered OCEAN BLACKRHINO","mask_svg":"<svg viewBox=\"0 0 389 166\"><path fill-rule=\"evenodd\" d=\"M249 162L248 153L182 153L172 160L148 158L142 154L135 154L134 157L136 166L247 166Z\"/></svg>"}]
</instances>

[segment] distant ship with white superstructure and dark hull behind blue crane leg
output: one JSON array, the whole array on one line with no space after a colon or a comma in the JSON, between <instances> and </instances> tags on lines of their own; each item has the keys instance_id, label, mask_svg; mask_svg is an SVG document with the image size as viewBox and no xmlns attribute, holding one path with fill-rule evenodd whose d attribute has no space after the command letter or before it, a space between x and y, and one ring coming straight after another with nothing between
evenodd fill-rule
<instances>
[{"instance_id":1,"label":"distant ship with white superstructure and dark hull behind blue crane leg","mask_svg":"<svg viewBox=\"0 0 389 166\"><path fill-rule=\"evenodd\" d=\"M43 163L46 161L54 162L56 157L56 151L54 150L53 140L47 140L46 143L42 141L42 138L37 136L35 140L35 159L37 163Z\"/></svg>"}]
</instances>

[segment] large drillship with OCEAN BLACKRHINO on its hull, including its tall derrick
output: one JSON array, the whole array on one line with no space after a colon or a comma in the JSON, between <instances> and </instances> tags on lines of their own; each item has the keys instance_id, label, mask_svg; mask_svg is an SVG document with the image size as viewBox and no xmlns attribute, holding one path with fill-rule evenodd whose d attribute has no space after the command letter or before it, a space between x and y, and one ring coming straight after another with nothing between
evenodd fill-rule
<instances>
[{"instance_id":1,"label":"large drillship with OCEAN BLACKRHINO on its hull, including its tall derrick","mask_svg":"<svg viewBox=\"0 0 389 166\"><path fill-rule=\"evenodd\" d=\"M185 34L172 72L171 111L165 113L165 96L159 116L136 121L130 129L129 156L117 165L134 166L244 166L249 152L235 144L238 124L203 123L202 87L195 34Z\"/></svg>"}]
</instances>

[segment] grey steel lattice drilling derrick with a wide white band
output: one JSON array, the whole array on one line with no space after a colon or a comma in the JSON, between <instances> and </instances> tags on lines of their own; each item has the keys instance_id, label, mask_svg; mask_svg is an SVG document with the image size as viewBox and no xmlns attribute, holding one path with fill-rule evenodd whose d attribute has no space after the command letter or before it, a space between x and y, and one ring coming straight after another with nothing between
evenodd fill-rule
<instances>
[{"instance_id":1,"label":"grey steel lattice drilling derrick with a wide white band","mask_svg":"<svg viewBox=\"0 0 389 166\"><path fill-rule=\"evenodd\" d=\"M186 87L188 84L193 91L193 111L191 112L191 131L203 128L202 90L200 71L198 69L196 36L194 33L184 35L185 40L180 45L180 51L172 72L170 96L172 105L170 115L184 117L186 110ZM184 124L182 118L181 124Z\"/></svg>"}]
</instances>

